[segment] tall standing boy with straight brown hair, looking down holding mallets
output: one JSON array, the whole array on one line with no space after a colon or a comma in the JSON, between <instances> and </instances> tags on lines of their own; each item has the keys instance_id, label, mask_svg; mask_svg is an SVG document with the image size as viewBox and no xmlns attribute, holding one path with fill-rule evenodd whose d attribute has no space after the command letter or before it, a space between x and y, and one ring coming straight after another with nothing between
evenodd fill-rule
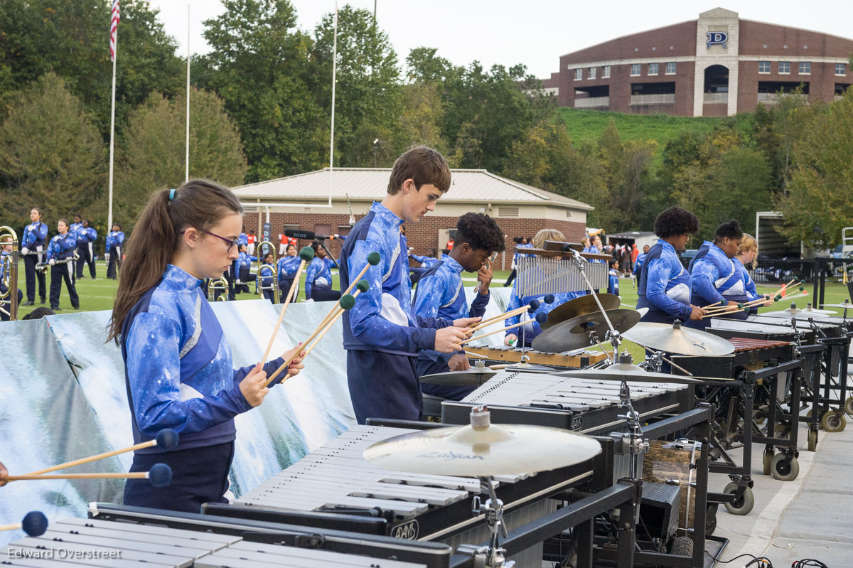
<instances>
[{"instance_id":1,"label":"tall standing boy with straight brown hair, looking down holding mallets","mask_svg":"<svg viewBox=\"0 0 853 568\"><path fill-rule=\"evenodd\" d=\"M422 318L411 310L409 261L399 227L433 211L448 189L450 167L444 157L432 148L409 148L394 162L385 198L352 227L344 243L341 289L368 264L368 254L380 254L380 263L370 266L364 276L368 291L344 312L346 375L359 424L371 416L420 420L418 352L458 351L461 340L467 338L463 327L478 319L451 323Z\"/></svg>"}]
</instances>

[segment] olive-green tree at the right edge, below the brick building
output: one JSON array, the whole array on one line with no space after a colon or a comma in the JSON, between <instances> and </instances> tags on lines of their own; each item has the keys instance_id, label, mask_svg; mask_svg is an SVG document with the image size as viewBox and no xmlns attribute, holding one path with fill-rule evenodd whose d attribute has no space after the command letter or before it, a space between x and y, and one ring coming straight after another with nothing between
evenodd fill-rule
<instances>
[{"instance_id":1,"label":"olive-green tree at the right edge, below the brick building","mask_svg":"<svg viewBox=\"0 0 853 568\"><path fill-rule=\"evenodd\" d=\"M853 219L853 91L817 105L800 122L792 177L778 204L787 236L824 248L838 245Z\"/></svg>"}]
</instances>

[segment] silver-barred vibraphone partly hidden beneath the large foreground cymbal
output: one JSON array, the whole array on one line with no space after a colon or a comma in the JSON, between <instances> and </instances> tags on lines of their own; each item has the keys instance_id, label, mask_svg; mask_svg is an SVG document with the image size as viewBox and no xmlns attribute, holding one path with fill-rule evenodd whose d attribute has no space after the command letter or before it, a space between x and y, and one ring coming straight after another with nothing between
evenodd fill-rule
<instances>
[{"instance_id":1,"label":"silver-barred vibraphone partly hidden beneath the large foreground cymbal","mask_svg":"<svg viewBox=\"0 0 853 568\"><path fill-rule=\"evenodd\" d=\"M470 419L469 419L470 420ZM389 472L364 461L372 443L409 429L354 426L291 467L241 496L234 504L206 504L206 514L351 530L396 538L462 543L488 538L482 515L473 515L479 495L475 478ZM556 508L548 500L594 475L595 461L536 475L498 476L496 495L513 529ZM542 547L514 557L520 566L540 566Z\"/></svg>"}]
</instances>

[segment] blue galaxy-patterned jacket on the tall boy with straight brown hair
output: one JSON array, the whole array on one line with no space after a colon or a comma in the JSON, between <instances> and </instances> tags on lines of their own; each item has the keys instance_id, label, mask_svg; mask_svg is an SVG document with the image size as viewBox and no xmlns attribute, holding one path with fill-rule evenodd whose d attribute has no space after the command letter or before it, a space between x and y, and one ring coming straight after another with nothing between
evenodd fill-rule
<instances>
[{"instance_id":1,"label":"blue galaxy-patterned jacket on the tall boy with straight brown hair","mask_svg":"<svg viewBox=\"0 0 853 568\"><path fill-rule=\"evenodd\" d=\"M441 319L412 313L409 261L397 217L381 203L356 223L344 243L340 258L340 287L350 286L368 264L368 254L379 252L381 262L363 276L370 287L344 312L344 348L415 356L435 346L435 330L452 325Z\"/></svg>"}]
</instances>

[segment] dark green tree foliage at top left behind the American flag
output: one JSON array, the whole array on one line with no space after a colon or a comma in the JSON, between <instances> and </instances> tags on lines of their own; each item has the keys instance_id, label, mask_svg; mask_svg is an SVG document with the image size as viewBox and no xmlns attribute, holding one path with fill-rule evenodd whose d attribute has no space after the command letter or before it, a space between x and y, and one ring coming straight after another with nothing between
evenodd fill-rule
<instances>
[{"instance_id":1,"label":"dark green tree foliage at top left behind the American flag","mask_svg":"<svg viewBox=\"0 0 853 568\"><path fill-rule=\"evenodd\" d=\"M119 130L125 114L148 93L160 90L171 95L184 81L176 43L166 35L157 15L148 2L121 3L116 68ZM110 4L103 0L0 2L0 104L10 92L54 72L83 101L102 136L108 138L113 77L109 19Z\"/></svg>"}]
</instances>

